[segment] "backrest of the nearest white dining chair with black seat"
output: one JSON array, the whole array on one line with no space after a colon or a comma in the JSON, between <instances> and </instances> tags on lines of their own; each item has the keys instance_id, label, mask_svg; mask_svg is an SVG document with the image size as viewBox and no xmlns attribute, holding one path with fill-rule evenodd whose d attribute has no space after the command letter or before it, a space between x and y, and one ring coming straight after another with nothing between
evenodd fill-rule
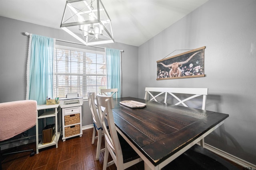
<instances>
[{"instance_id":1,"label":"backrest of the nearest white dining chair with black seat","mask_svg":"<svg viewBox=\"0 0 256 170\"><path fill-rule=\"evenodd\" d=\"M97 102L99 111L102 112L103 115L102 128L105 136L105 147L108 147L109 153L111 154L116 166L119 167L119 165L123 164L123 154L116 132L116 125L112 112L112 109L114 109L113 97L97 94ZM102 111L102 108L104 108L104 111ZM108 120L108 127L110 133L108 133L106 123L105 121L103 121L104 118Z\"/></svg>"}]
</instances>

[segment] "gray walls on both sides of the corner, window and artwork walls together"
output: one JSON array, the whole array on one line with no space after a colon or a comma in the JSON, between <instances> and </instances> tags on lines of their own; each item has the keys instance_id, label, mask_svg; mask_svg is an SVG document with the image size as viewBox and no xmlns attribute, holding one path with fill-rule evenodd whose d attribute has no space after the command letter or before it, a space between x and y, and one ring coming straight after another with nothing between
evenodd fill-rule
<instances>
[{"instance_id":1,"label":"gray walls on both sides of the corner, window and artwork walls together","mask_svg":"<svg viewBox=\"0 0 256 170\"><path fill-rule=\"evenodd\" d=\"M206 143L256 164L255 9L255 0L209 0L140 47L121 43L102 45L125 51L122 96L144 98L146 86L209 88L206 109L227 113L229 117L206 137ZM0 102L25 100L28 49L28 37L22 35L25 31L76 41L59 29L0 17ZM156 61L176 49L202 46L206 46L206 77L156 80ZM83 113L82 125L90 125L87 102Z\"/></svg>"}]
</instances>

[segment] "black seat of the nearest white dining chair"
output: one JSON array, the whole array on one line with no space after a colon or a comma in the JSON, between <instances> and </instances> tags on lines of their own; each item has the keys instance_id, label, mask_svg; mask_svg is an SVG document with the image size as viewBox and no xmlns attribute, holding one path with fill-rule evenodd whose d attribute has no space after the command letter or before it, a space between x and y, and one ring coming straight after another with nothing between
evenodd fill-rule
<instances>
[{"instance_id":1,"label":"black seat of the nearest white dining chair","mask_svg":"<svg viewBox=\"0 0 256 170\"><path fill-rule=\"evenodd\" d=\"M117 133L117 135L123 153L123 162L126 163L140 158L140 156L132 149L126 140L119 133Z\"/></svg>"}]
</instances>

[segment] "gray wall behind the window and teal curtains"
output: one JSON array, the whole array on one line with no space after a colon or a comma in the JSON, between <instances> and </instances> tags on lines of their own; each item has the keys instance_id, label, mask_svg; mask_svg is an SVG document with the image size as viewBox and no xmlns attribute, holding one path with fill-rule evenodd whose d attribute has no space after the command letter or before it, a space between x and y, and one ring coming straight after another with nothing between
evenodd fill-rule
<instances>
[{"instance_id":1,"label":"gray wall behind the window and teal curtains","mask_svg":"<svg viewBox=\"0 0 256 170\"><path fill-rule=\"evenodd\" d=\"M80 43L61 29L0 16L0 103L26 99L29 37L25 36L24 32ZM67 43L56 41L56 44ZM83 45L69 45L88 48ZM111 43L102 45L102 47L124 50L122 53L122 96L138 97L138 47L122 43ZM92 116L87 101L84 102L82 111L82 126L91 125Z\"/></svg>"}]
</instances>

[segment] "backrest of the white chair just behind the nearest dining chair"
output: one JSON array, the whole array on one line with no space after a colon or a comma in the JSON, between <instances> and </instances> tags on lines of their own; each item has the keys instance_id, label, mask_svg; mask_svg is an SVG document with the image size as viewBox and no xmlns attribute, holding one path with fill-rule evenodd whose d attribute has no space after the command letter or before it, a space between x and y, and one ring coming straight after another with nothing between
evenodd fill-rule
<instances>
[{"instance_id":1,"label":"backrest of the white chair just behind the nearest dining chair","mask_svg":"<svg viewBox=\"0 0 256 170\"><path fill-rule=\"evenodd\" d=\"M101 125L101 117L98 113L98 109L96 108L96 104L95 104L95 93L94 92L88 92L88 101L89 101L89 106L91 109L91 113L92 113L92 119L94 124L96 125L97 129L102 128Z\"/></svg>"}]
</instances>

